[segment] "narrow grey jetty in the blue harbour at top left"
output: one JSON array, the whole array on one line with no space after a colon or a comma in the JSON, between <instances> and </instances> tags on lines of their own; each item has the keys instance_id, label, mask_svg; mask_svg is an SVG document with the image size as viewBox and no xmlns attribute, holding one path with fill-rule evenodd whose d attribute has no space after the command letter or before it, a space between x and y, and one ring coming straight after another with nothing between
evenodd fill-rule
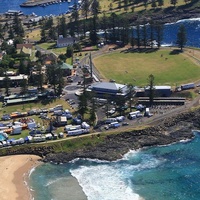
<instances>
[{"instance_id":1,"label":"narrow grey jetty in the blue harbour at top left","mask_svg":"<svg viewBox=\"0 0 200 200\"><path fill-rule=\"evenodd\" d=\"M27 0L26 2L20 4L21 7L35 7L35 6L48 6L51 4L69 2L67 0Z\"/></svg>"}]
</instances>

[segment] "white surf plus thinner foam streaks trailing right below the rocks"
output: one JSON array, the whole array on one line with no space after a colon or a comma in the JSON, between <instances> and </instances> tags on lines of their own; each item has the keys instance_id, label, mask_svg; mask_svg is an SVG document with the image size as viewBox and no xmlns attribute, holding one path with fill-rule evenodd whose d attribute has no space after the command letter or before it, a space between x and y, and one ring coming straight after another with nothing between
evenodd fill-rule
<instances>
[{"instance_id":1,"label":"white surf plus thinner foam streaks trailing right below the rocks","mask_svg":"<svg viewBox=\"0 0 200 200\"><path fill-rule=\"evenodd\" d=\"M130 151L113 162L85 159L90 165L70 169L70 173L78 180L88 200L138 200L140 197L134 192L131 177L136 171L155 168L163 162L148 154L138 155L139 152Z\"/></svg>"}]
</instances>

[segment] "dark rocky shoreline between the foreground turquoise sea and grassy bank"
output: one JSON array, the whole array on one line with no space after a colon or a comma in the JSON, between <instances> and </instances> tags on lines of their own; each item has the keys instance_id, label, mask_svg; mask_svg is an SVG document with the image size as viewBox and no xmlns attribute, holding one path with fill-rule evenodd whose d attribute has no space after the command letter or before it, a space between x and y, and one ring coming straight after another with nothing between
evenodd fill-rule
<instances>
[{"instance_id":1,"label":"dark rocky shoreline between the foreground turquoise sea and grassy bank","mask_svg":"<svg viewBox=\"0 0 200 200\"><path fill-rule=\"evenodd\" d=\"M157 126L108 135L105 141L95 147L79 149L71 153L49 153L44 162L65 163L75 158L92 158L114 161L122 158L129 150L143 147L167 145L192 139L192 129L200 128L200 110L187 112L166 119Z\"/></svg>"}]
</instances>

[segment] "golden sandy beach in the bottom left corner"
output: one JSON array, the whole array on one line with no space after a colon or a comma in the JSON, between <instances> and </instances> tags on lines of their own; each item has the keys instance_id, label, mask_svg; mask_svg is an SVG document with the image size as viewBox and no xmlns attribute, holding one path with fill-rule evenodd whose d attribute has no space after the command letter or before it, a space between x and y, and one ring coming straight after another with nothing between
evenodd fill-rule
<instances>
[{"instance_id":1,"label":"golden sandy beach in the bottom left corner","mask_svg":"<svg viewBox=\"0 0 200 200\"><path fill-rule=\"evenodd\" d=\"M28 200L30 193L25 179L29 171L40 164L39 156L15 155L0 157L0 199Z\"/></svg>"}]
</instances>

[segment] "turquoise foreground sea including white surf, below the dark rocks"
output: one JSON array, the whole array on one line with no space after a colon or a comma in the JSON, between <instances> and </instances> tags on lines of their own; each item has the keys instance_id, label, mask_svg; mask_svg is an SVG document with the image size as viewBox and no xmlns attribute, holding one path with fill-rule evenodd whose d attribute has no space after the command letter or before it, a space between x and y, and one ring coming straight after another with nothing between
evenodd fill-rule
<instances>
[{"instance_id":1,"label":"turquoise foreground sea including white surf, below the dark rocks","mask_svg":"<svg viewBox=\"0 0 200 200\"><path fill-rule=\"evenodd\" d=\"M88 200L199 200L200 135L191 141L130 151L108 162L76 159L43 164L30 175L35 200L71 200L67 181L75 177Z\"/></svg>"}]
</instances>

